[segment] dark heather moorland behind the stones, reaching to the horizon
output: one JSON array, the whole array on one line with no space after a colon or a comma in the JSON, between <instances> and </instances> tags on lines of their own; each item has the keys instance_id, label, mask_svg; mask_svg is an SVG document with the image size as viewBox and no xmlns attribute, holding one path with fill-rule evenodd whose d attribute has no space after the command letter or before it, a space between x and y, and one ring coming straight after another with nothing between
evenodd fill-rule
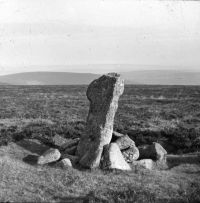
<instances>
[{"instance_id":1,"label":"dark heather moorland behind the stones, reaching to the horizon","mask_svg":"<svg viewBox=\"0 0 200 203\"><path fill-rule=\"evenodd\" d=\"M80 137L89 109L86 86L0 87L0 145L23 137ZM200 87L128 85L114 129L136 145L159 142L169 153L200 150Z\"/></svg>"}]
</instances>

